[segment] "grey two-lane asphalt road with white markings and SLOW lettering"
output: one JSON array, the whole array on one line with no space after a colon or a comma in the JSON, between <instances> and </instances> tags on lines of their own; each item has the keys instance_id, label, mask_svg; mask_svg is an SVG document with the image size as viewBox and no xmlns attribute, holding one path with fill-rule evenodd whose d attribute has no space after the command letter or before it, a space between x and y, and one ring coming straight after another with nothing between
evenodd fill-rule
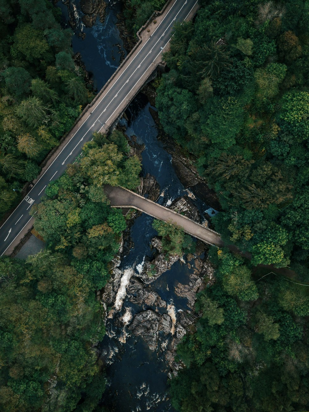
<instances>
[{"instance_id":1,"label":"grey two-lane asphalt road with white markings and SLOW lettering","mask_svg":"<svg viewBox=\"0 0 309 412\"><path fill-rule=\"evenodd\" d=\"M176 21L184 21L196 4L196 0L175 0L172 7L167 9L164 18L152 26L149 37L143 39L140 47L130 56L127 63L123 64L122 70L119 70L102 96L73 128L66 145L0 227L0 256L10 254L32 226L30 208L40 202L46 186L62 175L67 164L72 163L81 153L84 143L92 139L94 131L104 132L105 128L117 119L122 107L131 101L136 89L147 80L161 60L162 51L171 39L173 24Z\"/></svg>"}]
</instances>

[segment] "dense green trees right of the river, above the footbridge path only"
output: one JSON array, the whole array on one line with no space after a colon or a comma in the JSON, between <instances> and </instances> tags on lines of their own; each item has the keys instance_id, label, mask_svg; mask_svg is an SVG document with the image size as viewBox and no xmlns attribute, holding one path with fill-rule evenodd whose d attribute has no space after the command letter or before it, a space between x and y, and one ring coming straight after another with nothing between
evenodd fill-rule
<instances>
[{"instance_id":1,"label":"dense green trees right of the river, above the footbridge path only","mask_svg":"<svg viewBox=\"0 0 309 412\"><path fill-rule=\"evenodd\" d=\"M199 4L164 54L160 121L217 193L224 241L306 276L309 3Z\"/></svg>"}]
</instances>

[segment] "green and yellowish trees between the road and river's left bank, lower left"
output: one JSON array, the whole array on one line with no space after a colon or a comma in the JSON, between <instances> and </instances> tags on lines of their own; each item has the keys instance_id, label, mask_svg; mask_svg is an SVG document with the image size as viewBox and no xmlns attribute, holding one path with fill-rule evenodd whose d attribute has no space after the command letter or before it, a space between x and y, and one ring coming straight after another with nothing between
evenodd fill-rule
<instances>
[{"instance_id":1,"label":"green and yellowish trees between the road and river's left bank, lower left","mask_svg":"<svg viewBox=\"0 0 309 412\"><path fill-rule=\"evenodd\" d=\"M111 147L117 162L103 170ZM95 133L31 209L46 249L26 262L0 258L1 411L91 411L102 397L96 345L105 334L106 308L97 291L109 279L126 228L103 184L139 182L140 162L128 151L122 132Z\"/></svg>"}]
</instances>

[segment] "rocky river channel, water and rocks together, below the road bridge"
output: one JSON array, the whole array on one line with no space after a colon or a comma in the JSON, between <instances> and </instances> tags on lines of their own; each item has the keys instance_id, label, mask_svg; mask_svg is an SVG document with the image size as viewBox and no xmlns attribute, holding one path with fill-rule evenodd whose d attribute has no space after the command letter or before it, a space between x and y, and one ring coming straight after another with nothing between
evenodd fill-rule
<instances>
[{"instance_id":1,"label":"rocky river channel, water and rocks together, below the road bridge","mask_svg":"<svg viewBox=\"0 0 309 412\"><path fill-rule=\"evenodd\" d=\"M150 109L155 110L140 94L120 122L131 155L143 164L138 193L208 225L209 204L175 173ZM191 173L190 185L202 182L193 166ZM197 241L194 254L166 258L153 219L138 211L125 213L122 251L101 296L107 314L101 353L110 379L103 403L111 411L173 411L166 381L183 367L175 362L176 347L194 330L196 294L213 278L208 246Z\"/></svg>"}]
</instances>

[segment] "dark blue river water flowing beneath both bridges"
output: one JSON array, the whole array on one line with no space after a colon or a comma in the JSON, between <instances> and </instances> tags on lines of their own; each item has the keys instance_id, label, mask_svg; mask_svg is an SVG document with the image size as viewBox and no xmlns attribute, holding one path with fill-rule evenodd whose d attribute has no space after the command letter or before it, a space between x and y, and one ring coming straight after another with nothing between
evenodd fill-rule
<instances>
[{"instance_id":1,"label":"dark blue river water flowing beneath both bridges","mask_svg":"<svg viewBox=\"0 0 309 412\"><path fill-rule=\"evenodd\" d=\"M63 19L68 19L68 9L58 3L63 12ZM70 3L70 7L74 4ZM94 85L100 89L108 80L120 61L123 42L115 26L119 5L108 5L105 21L96 21L92 28L82 27L81 12L76 3L77 33L73 37L73 50L80 52L86 69L91 73ZM80 30L86 34L85 39L78 37ZM120 45L116 46L116 44ZM120 51L121 51L120 50ZM142 152L143 176L147 173L155 176L160 185L161 196L158 202L169 206L177 197L188 194L176 176L171 163L171 155L164 150L163 144L157 140L158 130L149 112L150 103L143 94L139 94L126 111L128 121L122 119L126 126L127 136L136 136L136 142L144 144ZM196 199L195 205L200 212L207 206ZM143 269L145 259L153 255L150 241L156 235L152 228L152 218L144 213L138 215L130 229L131 247L125 247L119 269L122 273L123 299L119 302L119 311L108 319L107 335L100 345L103 361L106 363L108 387L102 404L110 411L137 412L150 410L153 412L174 411L169 401L167 380L169 367L164 348L171 334L167 337L159 332L155 350L150 350L144 340L135 336L128 326L132 317L145 309L132 303L126 295L126 286L130 277L138 276ZM126 245L125 245L126 246ZM151 289L166 302L165 308L157 308L158 313L168 313L177 319L182 311L189 309L187 300L174 293L178 282L187 284L194 271L194 265L184 265L177 261L171 269L162 274L151 284ZM118 296L118 295L117 295ZM120 296L120 295L119 295ZM123 300L123 302L122 302ZM155 308L152 307L155 311Z\"/></svg>"}]
</instances>

